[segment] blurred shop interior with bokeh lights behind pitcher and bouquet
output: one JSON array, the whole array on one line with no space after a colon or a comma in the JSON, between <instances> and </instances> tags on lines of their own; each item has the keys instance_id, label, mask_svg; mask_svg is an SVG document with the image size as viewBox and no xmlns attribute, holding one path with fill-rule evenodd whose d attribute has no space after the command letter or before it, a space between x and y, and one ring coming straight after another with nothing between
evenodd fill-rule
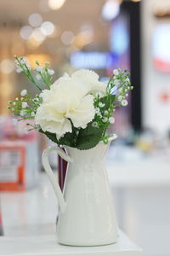
<instances>
[{"instance_id":1,"label":"blurred shop interior with bokeh lights behind pitcher and bouquet","mask_svg":"<svg viewBox=\"0 0 170 256\"><path fill-rule=\"evenodd\" d=\"M134 89L116 110L106 158L111 191L120 228L144 255L170 255L170 0L0 1L1 233L46 234L57 215L40 160L49 142L7 109L20 90L36 93L14 55L31 67L50 61L54 79L88 68L104 81L129 69ZM50 161L58 170L56 154Z\"/></svg>"}]
</instances>

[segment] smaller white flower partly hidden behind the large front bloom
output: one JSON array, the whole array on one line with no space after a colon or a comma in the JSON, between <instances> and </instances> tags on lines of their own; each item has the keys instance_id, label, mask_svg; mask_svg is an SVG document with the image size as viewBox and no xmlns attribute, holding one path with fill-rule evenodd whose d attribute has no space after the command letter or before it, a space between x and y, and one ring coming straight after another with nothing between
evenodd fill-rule
<instances>
[{"instance_id":1,"label":"smaller white flower partly hidden behind the large front bloom","mask_svg":"<svg viewBox=\"0 0 170 256\"><path fill-rule=\"evenodd\" d=\"M105 95L106 85L99 82L99 75L94 71L80 69L72 73L71 78L82 80L88 86L89 93L95 95L99 91Z\"/></svg>"}]
</instances>

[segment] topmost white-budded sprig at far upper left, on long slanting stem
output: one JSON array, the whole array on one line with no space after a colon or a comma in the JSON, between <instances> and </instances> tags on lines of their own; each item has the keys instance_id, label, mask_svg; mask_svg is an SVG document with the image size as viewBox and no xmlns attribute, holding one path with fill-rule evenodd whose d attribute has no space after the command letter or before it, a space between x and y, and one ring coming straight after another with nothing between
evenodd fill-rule
<instances>
[{"instance_id":1,"label":"topmost white-budded sprig at far upper left, on long slanting stem","mask_svg":"<svg viewBox=\"0 0 170 256\"><path fill-rule=\"evenodd\" d=\"M16 72L22 73L25 75L32 84L34 84L38 90L42 90L37 81L33 78L31 74L31 67L26 59L26 57L18 57L14 55L15 63L16 63Z\"/></svg>"}]
</instances>

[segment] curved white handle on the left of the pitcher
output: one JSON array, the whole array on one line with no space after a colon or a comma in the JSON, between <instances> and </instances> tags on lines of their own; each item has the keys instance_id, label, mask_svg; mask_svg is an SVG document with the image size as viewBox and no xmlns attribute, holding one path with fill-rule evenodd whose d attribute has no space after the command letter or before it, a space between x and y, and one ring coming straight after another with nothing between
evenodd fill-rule
<instances>
[{"instance_id":1,"label":"curved white handle on the left of the pitcher","mask_svg":"<svg viewBox=\"0 0 170 256\"><path fill-rule=\"evenodd\" d=\"M59 156L62 157L67 162L73 162L73 160L71 160L71 157L68 154L65 154L65 151L59 148L58 146L48 147L42 152L42 166L44 167L44 170L47 173L48 178L53 185L55 195L59 201L60 211L65 212L65 205L66 205L65 199L61 189L59 188L59 183L57 181L57 178L55 177L54 172L52 171L48 161L48 154L54 150L56 150Z\"/></svg>"}]
</instances>

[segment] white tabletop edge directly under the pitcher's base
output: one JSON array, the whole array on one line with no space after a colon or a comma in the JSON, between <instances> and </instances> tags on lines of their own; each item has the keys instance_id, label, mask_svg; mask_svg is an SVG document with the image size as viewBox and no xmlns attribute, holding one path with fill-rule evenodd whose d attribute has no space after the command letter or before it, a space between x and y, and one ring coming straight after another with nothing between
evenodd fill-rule
<instances>
[{"instance_id":1,"label":"white tabletop edge directly under the pitcher's base","mask_svg":"<svg viewBox=\"0 0 170 256\"><path fill-rule=\"evenodd\" d=\"M8 256L141 256L142 251L120 232L118 241L103 247L68 247L59 245L54 235L0 238L0 255Z\"/></svg>"}]
</instances>

